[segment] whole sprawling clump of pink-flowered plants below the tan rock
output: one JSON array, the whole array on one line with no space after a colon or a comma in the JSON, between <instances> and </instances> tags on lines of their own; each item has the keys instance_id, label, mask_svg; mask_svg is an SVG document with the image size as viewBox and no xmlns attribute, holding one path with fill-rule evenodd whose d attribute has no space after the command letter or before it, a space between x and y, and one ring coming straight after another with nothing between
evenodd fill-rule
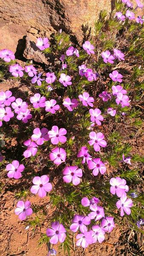
<instances>
[{"instance_id":1,"label":"whole sprawling clump of pink-flowered plants below the tan rock","mask_svg":"<svg viewBox=\"0 0 144 256\"><path fill-rule=\"evenodd\" d=\"M29 89L0 91L3 189L17 182L14 212L29 228L44 225L39 243L48 255L56 255L57 243L69 255L75 244L85 250L103 243L118 224L143 233L136 148L144 87L143 18L136 10L143 6L136 3L133 9L115 1L110 17L100 13L95 36L85 27L81 45L61 29L37 38L37 51L52 55L53 66L19 64L14 52L0 50L0 79L24 80ZM43 201L33 204L32 196Z\"/></svg>"}]
</instances>

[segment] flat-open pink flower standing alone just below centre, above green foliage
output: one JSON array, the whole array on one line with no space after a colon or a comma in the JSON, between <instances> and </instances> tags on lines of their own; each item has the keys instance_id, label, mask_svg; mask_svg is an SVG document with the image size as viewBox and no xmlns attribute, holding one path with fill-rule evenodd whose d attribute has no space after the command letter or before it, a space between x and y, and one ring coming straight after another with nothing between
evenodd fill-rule
<instances>
[{"instance_id":1,"label":"flat-open pink flower standing alone just below centre, above green foliage","mask_svg":"<svg viewBox=\"0 0 144 256\"><path fill-rule=\"evenodd\" d=\"M70 183L72 181L73 185L78 185L81 180L79 177L83 176L82 169L78 169L78 166L66 166L63 170L63 180L66 183Z\"/></svg>"}]
</instances>

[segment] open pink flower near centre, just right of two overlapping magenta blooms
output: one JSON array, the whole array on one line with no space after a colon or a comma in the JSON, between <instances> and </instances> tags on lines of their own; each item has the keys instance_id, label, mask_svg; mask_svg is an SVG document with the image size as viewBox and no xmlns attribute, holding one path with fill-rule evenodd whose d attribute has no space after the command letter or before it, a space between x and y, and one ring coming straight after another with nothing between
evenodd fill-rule
<instances>
[{"instance_id":1,"label":"open pink flower near centre, just right of two overlapping magenta blooms","mask_svg":"<svg viewBox=\"0 0 144 256\"><path fill-rule=\"evenodd\" d=\"M66 137L63 136L67 134L66 129L60 128L58 129L58 126L54 125L52 126L52 130L48 132L49 139L51 139L51 143L56 145L59 142L65 143L66 142Z\"/></svg>"}]
</instances>

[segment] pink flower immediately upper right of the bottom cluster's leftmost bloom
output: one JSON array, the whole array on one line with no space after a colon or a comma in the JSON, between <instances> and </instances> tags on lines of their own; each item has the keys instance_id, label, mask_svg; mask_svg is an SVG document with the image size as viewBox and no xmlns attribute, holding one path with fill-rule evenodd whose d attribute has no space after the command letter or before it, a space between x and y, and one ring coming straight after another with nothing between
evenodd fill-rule
<instances>
[{"instance_id":1,"label":"pink flower immediately upper right of the bottom cluster's leftmost bloom","mask_svg":"<svg viewBox=\"0 0 144 256\"><path fill-rule=\"evenodd\" d=\"M90 224L90 218L88 216L75 215L72 219L72 225L70 226L70 230L73 232L77 232L78 229L81 230L81 233L85 233L87 231L87 227L85 225Z\"/></svg>"}]
</instances>

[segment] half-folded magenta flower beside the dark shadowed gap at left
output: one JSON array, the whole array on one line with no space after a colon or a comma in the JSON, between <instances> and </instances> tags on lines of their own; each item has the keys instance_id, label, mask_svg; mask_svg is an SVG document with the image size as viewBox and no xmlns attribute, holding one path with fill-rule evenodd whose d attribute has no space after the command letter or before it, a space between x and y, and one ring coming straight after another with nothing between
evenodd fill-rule
<instances>
[{"instance_id":1,"label":"half-folded magenta flower beside the dark shadowed gap at left","mask_svg":"<svg viewBox=\"0 0 144 256\"><path fill-rule=\"evenodd\" d=\"M37 154L37 144L35 142L29 139L26 140L23 144L27 146L27 149L23 152L24 157L34 157Z\"/></svg>"}]
</instances>

